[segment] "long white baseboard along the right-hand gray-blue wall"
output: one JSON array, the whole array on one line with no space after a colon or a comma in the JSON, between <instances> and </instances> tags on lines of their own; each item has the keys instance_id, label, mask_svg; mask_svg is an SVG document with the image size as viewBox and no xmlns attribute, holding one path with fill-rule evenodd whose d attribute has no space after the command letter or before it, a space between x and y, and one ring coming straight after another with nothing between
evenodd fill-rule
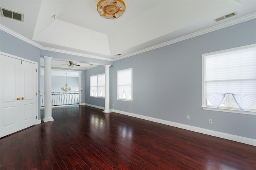
<instances>
[{"instance_id":1,"label":"long white baseboard along the right-hand gray-blue wall","mask_svg":"<svg viewBox=\"0 0 256 170\"><path fill-rule=\"evenodd\" d=\"M91 107L93 107L93 105L91 105ZM110 110L112 112L120 113L122 115L136 117L136 118L144 119L144 120L147 120L147 121L161 123L161 124L164 124L164 125L178 127L178 128L182 128L182 129L186 129L186 130L190 130L190 131L194 131L194 132L199 132L199 133L202 133L202 134L208 134L210 136L216 136L216 137L219 137L219 138L224 138L224 139L233 140L233 141L236 141L236 142L256 146L256 139L252 139L252 138L246 138L246 137L242 137L242 136L237 136L237 135L233 135L233 134L218 132L218 131L209 130L209 129L205 129L205 128L194 127L194 126L190 126L190 125L184 125L184 124L181 124L181 123L176 123L176 122L171 122L171 121L165 121L165 120L162 120L162 119L147 117L147 116L143 116L143 115L137 115L137 114L134 114L134 113L128 113L128 112L124 112L124 111L118 111L118 110L115 110L115 109L110 109Z\"/></svg>"}]
</instances>

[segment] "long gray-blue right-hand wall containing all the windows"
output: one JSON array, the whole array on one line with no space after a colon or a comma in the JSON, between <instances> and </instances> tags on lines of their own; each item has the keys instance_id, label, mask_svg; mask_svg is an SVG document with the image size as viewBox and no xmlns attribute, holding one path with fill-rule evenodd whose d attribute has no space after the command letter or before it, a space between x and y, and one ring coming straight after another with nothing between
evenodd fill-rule
<instances>
[{"instance_id":1,"label":"long gray-blue right-hand wall containing all the windows","mask_svg":"<svg viewBox=\"0 0 256 170\"><path fill-rule=\"evenodd\" d=\"M256 115L201 108L202 54L252 43L256 43L255 19L114 61L110 67L110 109L256 139ZM133 101L118 101L117 71L131 67ZM104 73L104 68L86 70L86 91L88 76L99 73ZM91 105L104 106L102 99L92 100L89 93L86 103L87 99Z\"/></svg>"}]
</instances>

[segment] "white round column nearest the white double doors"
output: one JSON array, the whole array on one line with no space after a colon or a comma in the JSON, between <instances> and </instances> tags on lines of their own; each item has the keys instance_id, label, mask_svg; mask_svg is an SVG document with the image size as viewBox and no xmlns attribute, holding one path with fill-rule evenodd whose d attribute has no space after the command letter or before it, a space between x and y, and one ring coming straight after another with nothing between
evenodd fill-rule
<instances>
[{"instance_id":1,"label":"white round column nearest the white double doors","mask_svg":"<svg viewBox=\"0 0 256 170\"><path fill-rule=\"evenodd\" d=\"M52 81L51 59L44 56L44 122L54 121L52 118Z\"/></svg>"}]
</instances>

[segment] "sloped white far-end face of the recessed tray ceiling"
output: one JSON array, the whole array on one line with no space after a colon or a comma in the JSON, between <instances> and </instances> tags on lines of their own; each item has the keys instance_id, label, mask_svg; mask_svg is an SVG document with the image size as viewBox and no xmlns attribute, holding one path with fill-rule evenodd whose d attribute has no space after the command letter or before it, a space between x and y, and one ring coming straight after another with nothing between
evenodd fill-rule
<instances>
[{"instance_id":1,"label":"sloped white far-end face of the recessed tray ceiling","mask_svg":"<svg viewBox=\"0 0 256 170\"><path fill-rule=\"evenodd\" d=\"M54 20L33 40L110 55L105 34L61 20Z\"/></svg>"}]
</instances>

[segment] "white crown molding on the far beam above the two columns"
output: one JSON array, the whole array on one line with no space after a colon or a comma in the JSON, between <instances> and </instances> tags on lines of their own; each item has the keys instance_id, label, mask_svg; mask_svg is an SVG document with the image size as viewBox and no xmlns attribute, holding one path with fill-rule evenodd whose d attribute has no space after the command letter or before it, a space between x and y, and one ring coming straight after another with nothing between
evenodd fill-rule
<instances>
[{"instance_id":1,"label":"white crown molding on the far beam above the two columns","mask_svg":"<svg viewBox=\"0 0 256 170\"><path fill-rule=\"evenodd\" d=\"M41 49L47 50L47 51L58 52L58 53L65 53L65 54L70 54L70 55L78 55L78 56L82 56L82 57L101 59L101 60L106 60L106 61L114 61L113 59L109 59L109 58L99 57L99 56L95 56L95 55L88 55L88 54L84 54L84 53L77 53L77 52L72 52L72 51L66 51L63 49L56 49L56 48L50 48L50 47L42 47Z\"/></svg>"}]
</instances>

